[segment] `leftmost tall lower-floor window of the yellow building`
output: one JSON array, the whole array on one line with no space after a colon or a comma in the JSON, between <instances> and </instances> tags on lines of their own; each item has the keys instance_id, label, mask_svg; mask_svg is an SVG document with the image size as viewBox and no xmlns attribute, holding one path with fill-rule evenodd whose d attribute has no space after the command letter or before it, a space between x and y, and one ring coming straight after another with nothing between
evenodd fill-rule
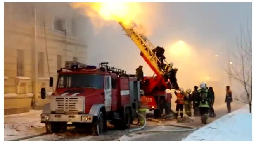
<instances>
[{"instance_id":1,"label":"leftmost tall lower-floor window of the yellow building","mask_svg":"<svg viewBox=\"0 0 256 143\"><path fill-rule=\"evenodd\" d=\"M24 76L24 51L17 50L17 76Z\"/></svg>"}]
</instances>

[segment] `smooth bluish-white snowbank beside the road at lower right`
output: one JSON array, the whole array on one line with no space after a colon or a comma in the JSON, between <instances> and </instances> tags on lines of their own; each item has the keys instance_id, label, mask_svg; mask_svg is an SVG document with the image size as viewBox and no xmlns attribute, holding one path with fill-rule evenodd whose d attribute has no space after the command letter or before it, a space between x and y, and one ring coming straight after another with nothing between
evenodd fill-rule
<instances>
[{"instance_id":1,"label":"smooth bluish-white snowbank beside the road at lower right","mask_svg":"<svg viewBox=\"0 0 256 143\"><path fill-rule=\"evenodd\" d=\"M252 119L246 105L194 131L182 141L252 141Z\"/></svg>"}]
</instances>

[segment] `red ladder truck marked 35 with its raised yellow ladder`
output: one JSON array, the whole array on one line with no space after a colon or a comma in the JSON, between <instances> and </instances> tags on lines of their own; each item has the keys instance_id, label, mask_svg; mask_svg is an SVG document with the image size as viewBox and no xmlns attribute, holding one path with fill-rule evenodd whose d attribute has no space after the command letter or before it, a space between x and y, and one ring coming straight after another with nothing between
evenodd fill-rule
<instances>
[{"instance_id":1,"label":"red ladder truck marked 35 with its raised yellow ladder","mask_svg":"<svg viewBox=\"0 0 256 143\"><path fill-rule=\"evenodd\" d=\"M123 31L125 31L125 35L130 37L130 39L140 49L140 55L156 74L156 76L153 77L144 77L144 82L141 89L144 90L145 96L147 97L147 108L149 110L154 110L154 118L158 118L161 116L161 114L163 114L163 109L166 102L166 89L174 90L175 87L170 79L164 79L169 67L160 68L158 66L157 63L159 63L160 60L157 58L156 54L152 52L152 49L154 49L155 46L150 42L149 39L141 34L138 34L133 29L134 27L126 28L121 22L119 22L119 24L123 28ZM164 64L164 66L165 65L166 64Z\"/></svg>"}]
</instances>

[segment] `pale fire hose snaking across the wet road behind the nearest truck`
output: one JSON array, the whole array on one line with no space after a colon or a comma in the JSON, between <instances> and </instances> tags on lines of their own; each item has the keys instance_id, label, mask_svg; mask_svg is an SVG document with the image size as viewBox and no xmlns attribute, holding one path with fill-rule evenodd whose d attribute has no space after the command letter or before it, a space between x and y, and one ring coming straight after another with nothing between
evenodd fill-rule
<instances>
[{"instance_id":1,"label":"pale fire hose snaking across the wet road behind the nearest truck","mask_svg":"<svg viewBox=\"0 0 256 143\"><path fill-rule=\"evenodd\" d=\"M144 118L145 124L143 126L141 126L140 128L135 128L135 129L131 129L129 130L129 133L134 132L134 131L139 131L145 128L145 126L147 125L147 119L140 113L137 112L137 114ZM148 130L148 131L139 131L136 132L137 134L139 133L152 133L152 132L184 132L184 131L195 131L198 128L194 127L194 126L186 126L186 125L180 125L180 124L162 124L162 121L159 121L157 119L149 119L151 121L156 121L158 122L157 126L175 126L175 127L181 127L181 128L185 128L185 129L176 129L176 130Z\"/></svg>"}]
</instances>

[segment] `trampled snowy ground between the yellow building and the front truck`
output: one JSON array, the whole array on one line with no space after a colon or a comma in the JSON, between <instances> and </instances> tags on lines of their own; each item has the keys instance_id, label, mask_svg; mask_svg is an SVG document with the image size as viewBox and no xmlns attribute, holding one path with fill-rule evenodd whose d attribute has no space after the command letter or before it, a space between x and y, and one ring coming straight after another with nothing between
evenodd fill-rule
<instances>
[{"instance_id":1,"label":"trampled snowy ground between the yellow building and the front truck","mask_svg":"<svg viewBox=\"0 0 256 143\"><path fill-rule=\"evenodd\" d=\"M30 110L28 113L4 116L4 140L45 132L45 125L40 123L42 110Z\"/></svg>"}]
</instances>

